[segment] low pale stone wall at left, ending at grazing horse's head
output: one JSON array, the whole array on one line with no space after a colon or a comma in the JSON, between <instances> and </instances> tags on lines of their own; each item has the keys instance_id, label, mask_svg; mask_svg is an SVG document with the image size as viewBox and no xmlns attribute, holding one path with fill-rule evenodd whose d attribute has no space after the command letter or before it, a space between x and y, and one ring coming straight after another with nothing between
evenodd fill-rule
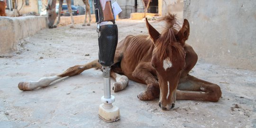
<instances>
[{"instance_id":1,"label":"low pale stone wall at left, ending at grazing horse's head","mask_svg":"<svg viewBox=\"0 0 256 128\"><path fill-rule=\"evenodd\" d=\"M43 28L46 28L46 17L0 17L0 56L18 51L20 39L32 36Z\"/></svg>"}]
</instances>

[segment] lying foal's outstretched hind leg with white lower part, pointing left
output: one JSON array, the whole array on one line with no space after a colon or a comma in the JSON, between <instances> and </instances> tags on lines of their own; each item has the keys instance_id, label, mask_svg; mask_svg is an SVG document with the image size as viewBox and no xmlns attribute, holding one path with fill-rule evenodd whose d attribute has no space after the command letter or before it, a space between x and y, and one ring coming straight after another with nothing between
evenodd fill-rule
<instances>
[{"instance_id":1,"label":"lying foal's outstretched hind leg with white lower part, pointing left","mask_svg":"<svg viewBox=\"0 0 256 128\"><path fill-rule=\"evenodd\" d=\"M99 64L98 60L94 60L94 61L84 64L84 65L75 65L73 67L68 68L64 73L58 74L56 76L43 77L43 78L39 79L38 81L19 82L18 88L22 91L28 91L28 90L36 89L38 87L46 87L51 82L54 82L60 78L63 78L66 76L78 75L78 74L82 73L84 70L87 70L90 68L101 68L101 64Z\"/></svg>"}]
</instances>

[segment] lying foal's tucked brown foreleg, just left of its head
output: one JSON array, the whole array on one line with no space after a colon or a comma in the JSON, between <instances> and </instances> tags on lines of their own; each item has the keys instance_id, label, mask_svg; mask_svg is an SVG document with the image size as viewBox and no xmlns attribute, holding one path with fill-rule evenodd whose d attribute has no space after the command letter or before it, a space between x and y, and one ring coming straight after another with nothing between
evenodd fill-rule
<instances>
[{"instance_id":1,"label":"lying foal's tucked brown foreleg, just left of its head","mask_svg":"<svg viewBox=\"0 0 256 128\"><path fill-rule=\"evenodd\" d=\"M160 88L159 83L155 79L154 75L148 70L151 67L151 63L141 63L137 65L136 69L132 73L132 76L142 80L147 84L146 90L138 94L138 99L142 101L154 100L159 97Z\"/></svg>"}]
</instances>

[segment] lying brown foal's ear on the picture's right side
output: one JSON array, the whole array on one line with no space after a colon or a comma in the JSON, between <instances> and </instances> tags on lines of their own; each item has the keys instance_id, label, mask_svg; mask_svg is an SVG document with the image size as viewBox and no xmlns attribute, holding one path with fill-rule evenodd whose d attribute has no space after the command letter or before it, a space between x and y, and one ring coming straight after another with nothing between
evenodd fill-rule
<instances>
[{"instance_id":1,"label":"lying brown foal's ear on the picture's right side","mask_svg":"<svg viewBox=\"0 0 256 128\"><path fill-rule=\"evenodd\" d=\"M183 26L178 32L178 41L184 46L185 41L188 40L189 37L189 32L190 32L190 27L189 27L189 22L187 19L184 19Z\"/></svg>"}]
</instances>

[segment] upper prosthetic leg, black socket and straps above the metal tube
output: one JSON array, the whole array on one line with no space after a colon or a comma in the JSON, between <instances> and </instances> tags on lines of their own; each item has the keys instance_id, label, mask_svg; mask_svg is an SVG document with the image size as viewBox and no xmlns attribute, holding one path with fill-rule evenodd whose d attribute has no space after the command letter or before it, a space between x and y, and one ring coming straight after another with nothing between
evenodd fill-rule
<instances>
[{"instance_id":1,"label":"upper prosthetic leg, black socket and straps above the metal tube","mask_svg":"<svg viewBox=\"0 0 256 128\"><path fill-rule=\"evenodd\" d=\"M95 17L97 23L97 32L99 33L99 63L102 66L111 66L114 64L114 56L118 43L118 27L115 24L115 18L111 6L111 1L103 3L101 0L93 0L95 7ZM113 24L100 25L101 22L111 21Z\"/></svg>"}]
</instances>

